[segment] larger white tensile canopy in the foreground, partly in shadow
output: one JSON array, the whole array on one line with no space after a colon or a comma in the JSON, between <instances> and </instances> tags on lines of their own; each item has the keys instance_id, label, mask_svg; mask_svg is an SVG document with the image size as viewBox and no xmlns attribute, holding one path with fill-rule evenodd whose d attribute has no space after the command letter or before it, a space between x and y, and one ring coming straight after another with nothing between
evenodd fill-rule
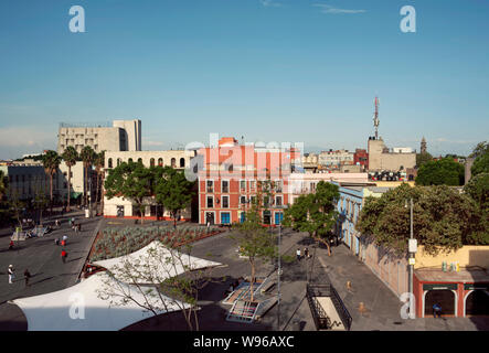
<instances>
[{"instance_id":1,"label":"larger white tensile canopy in the foreground, partly in shadow","mask_svg":"<svg viewBox=\"0 0 489 353\"><path fill-rule=\"evenodd\" d=\"M138 302L143 295L136 286L117 281L106 272L98 272L70 288L47 295L12 300L24 312L29 331L118 331L153 315L132 301L125 306L110 304L98 298L104 286L119 286ZM147 296L148 297L148 296ZM166 308L158 314L173 312L190 304L167 298ZM160 304L161 307L161 304Z\"/></svg>"}]
</instances>

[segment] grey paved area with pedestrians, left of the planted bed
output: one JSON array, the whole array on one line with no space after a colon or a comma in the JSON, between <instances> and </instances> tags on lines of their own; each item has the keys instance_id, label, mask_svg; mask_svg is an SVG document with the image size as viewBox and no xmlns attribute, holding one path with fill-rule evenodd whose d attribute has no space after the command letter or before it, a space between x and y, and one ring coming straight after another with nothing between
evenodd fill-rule
<instances>
[{"instance_id":1,"label":"grey paved area with pedestrians, left of the planted bed","mask_svg":"<svg viewBox=\"0 0 489 353\"><path fill-rule=\"evenodd\" d=\"M75 217L82 224L82 232L75 232L68 226L68 218ZM54 226L54 220L61 220L61 228L40 238L14 242L13 250L9 250L11 231L2 232L0 237L0 331L26 330L26 321L22 311L9 300L32 297L65 289L76 284L86 257L96 236L100 217L85 218L83 212L72 212L64 216L44 220L44 225ZM68 254L66 264L61 259L62 246L56 246L54 239L67 235L65 249ZM8 267L13 265L15 279L8 280ZM23 272L31 274L30 286L25 287Z\"/></svg>"}]
</instances>

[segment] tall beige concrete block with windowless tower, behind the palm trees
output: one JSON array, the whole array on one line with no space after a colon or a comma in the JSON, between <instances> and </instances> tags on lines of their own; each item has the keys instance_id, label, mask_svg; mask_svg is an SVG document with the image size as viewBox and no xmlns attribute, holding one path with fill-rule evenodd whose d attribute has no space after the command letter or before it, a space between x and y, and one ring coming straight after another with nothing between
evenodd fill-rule
<instances>
[{"instance_id":1,"label":"tall beige concrete block with windowless tower, behind the palm trees","mask_svg":"<svg viewBox=\"0 0 489 353\"><path fill-rule=\"evenodd\" d=\"M62 154L72 146L79 153L85 146L95 152L102 151L140 151L141 120L114 120L103 125L60 124L57 133L57 153Z\"/></svg>"}]
</instances>

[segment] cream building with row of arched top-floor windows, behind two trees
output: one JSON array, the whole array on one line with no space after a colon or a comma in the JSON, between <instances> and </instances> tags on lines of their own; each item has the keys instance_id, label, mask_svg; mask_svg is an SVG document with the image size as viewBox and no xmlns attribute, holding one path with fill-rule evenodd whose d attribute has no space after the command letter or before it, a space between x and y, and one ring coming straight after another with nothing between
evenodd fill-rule
<instances>
[{"instance_id":1,"label":"cream building with row of arched top-floor windows, behind two trees","mask_svg":"<svg viewBox=\"0 0 489 353\"><path fill-rule=\"evenodd\" d=\"M105 170L116 168L123 162L141 162L145 167L161 165L172 167L183 170L190 167L190 160L195 156L195 151L170 150L170 151L108 151L105 153ZM148 199L143 217L147 220L169 220L170 213L157 205L153 199ZM124 197L107 199L104 196L105 217L140 218L140 211L130 200ZM191 220L191 207L181 213L182 221Z\"/></svg>"}]
</instances>

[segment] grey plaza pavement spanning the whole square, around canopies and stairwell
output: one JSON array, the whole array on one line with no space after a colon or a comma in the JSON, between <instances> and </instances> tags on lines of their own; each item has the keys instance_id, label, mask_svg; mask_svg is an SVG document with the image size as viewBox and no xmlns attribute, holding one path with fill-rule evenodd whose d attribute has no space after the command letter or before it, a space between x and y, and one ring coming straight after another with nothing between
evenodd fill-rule
<instances>
[{"instance_id":1,"label":"grey plaza pavement spanning the whole square, around canopies and stairwell","mask_svg":"<svg viewBox=\"0 0 489 353\"><path fill-rule=\"evenodd\" d=\"M17 297L28 297L60 290L72 286L77 280L83 261L86 258L93 242L96 226L129 226L134 221L127 220L82 220L84 234L75 236L68 233L68 263L62 266L60 259L61 248L54 245L54 237L62 236L65 228L55 231L46 238L29 239L24 249L0 256L0 266L4 268L12 264L17 268L18 282L14 287L8 287L7 275L0 282L0 300L6 301ZM145 225L152 225L151 222ZM196 225L195 225L196 226ZM77 238L79 237L79 238ZM46 242L45 242L46 240ZM73 242L75 240L75 242ZM32 246L31 246L32 245ZM280 253L295 258L295 252L299 247L308 246L315 258L283 261L281 276L281 303L280 327L285 331L315 331L312 315L306 299L306 285L323 284L330 281L337 289L352 317L352 331L476 331L489 330L488 319L477 318L447 318L447 319L415 319L403 320L400 315L402 303L396 296L375 275L362 264L344 245L332 247L333 256L329 257L323 246L315 247L313 242L304 233L289 229L284 231L281 237ZM0 250L8 247L6 238L0 238ZM315 253L316 248L316 253ZM41 255L41 256L40 256ZM193 244L192 255L214 261L224 266L212 270L212 281L200 291L199 329L202 331L263 331L278 330L277 314L278 306L273 307L256 323L236 323L225 320L230 306L221 301L224 291L230 284L240 277L249 275L249 265L246 259L238 258L235 240L230 237L230 232L204 238ZM39 259L42 260L39 260ZM23 269L28 266L33 275L32 287L24 289ZM276 269L276 264L262 264L257 276L268 276ZM351 281L352 288L347 288L347 281ZM272 289L276 292L276 286ZM363 302L366 311L360 312L359 304ZM21 310L15 306L3 303L0 306L0 330L25 330L26 323ZM142 331L185 331L188 330L181 312L151 318L135 323L125 330Z\"/></svg>"}]
</instances>

